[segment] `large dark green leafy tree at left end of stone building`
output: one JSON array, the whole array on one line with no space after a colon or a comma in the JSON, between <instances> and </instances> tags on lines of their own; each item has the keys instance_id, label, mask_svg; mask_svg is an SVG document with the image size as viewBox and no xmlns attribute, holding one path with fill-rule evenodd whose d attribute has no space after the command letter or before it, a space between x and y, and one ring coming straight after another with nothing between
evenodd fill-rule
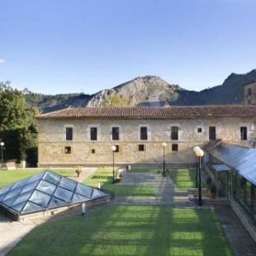
<instances>
[{"instance_id":1,"label":"large dark green leafy tree at left end of stone building","mask_svg":"<svg viewBox=\"0 0 256 256\"><path fill-rule=\"evenodd\" d=\"M35 116L39 113L37 107L26 106L22 92L11 88L9 82L0 83L0 138L6 145L5 159L27 159L27 152L35 150Z\"/></svg>"}]
</instances>

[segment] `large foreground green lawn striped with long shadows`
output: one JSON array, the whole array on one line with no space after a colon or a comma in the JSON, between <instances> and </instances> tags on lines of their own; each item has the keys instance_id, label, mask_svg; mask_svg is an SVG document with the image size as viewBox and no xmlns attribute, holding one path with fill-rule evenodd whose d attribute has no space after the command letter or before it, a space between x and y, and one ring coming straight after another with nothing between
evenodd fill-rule
<instances>
[{"instance_id":1,"label":"large foreground green lawn striped with long shadows","mask_svg":"<svg viewBox=\"0 0 256 256\"><path fill-rule=\"evenodd\" d=\"M8 255L233 255L213 210L107 206L36 226Z\"/></svg>"}]
</instances>

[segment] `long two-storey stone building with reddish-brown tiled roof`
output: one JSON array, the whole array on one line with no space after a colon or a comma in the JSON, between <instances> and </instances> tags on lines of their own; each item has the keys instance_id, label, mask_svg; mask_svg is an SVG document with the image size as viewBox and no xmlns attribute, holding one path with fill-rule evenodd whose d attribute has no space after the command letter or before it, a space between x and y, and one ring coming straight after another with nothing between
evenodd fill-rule
<instances>
[{"instance_id":1,"label":"long two-storey stone building with reddish-brown tiled roof","mask_svg":"<svg viewBox=\"0 0 256 256\"><path fill-rule=\"evenodd\" d=\"M37 116L38 165L194 164L193 147L222 140L251 147L256 106L83 107Z\"/></svg>"}]
</instances>

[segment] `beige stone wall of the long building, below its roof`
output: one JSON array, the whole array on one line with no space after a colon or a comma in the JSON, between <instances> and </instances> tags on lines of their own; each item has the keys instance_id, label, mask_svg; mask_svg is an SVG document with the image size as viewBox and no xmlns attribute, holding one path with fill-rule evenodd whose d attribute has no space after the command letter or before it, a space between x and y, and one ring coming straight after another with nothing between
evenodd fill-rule
<instances>
[{"instance_id":1,"label":"beige stone wall of the long building, below its roof","mask_svg":"<svg viewBox=\"0 0 256 256\"><path fill-rule=\"evenodd\" d=\"M112 145L119 145L116 164L162 164L163 142L167 164L194 164L193 147L209 142L209 126L216 126L216 139L250 146L256 137L256 117L209 117L204 119L92 119L86 117L39 119L38 165L111 165ZM111 127L120 130L120 140L111 140ZM148 140L140 140L140 126L148 127ZM171 140L171 126L178 126L178 140ZM247 127L247 140L240 140L240 127ZM66 127L73 140L66 140ZM90 127L97 127L97 140L90 140ZM198 132L201 130L201 132ZM178 152L173 151L178 145ZM145 145L145 151L139 151ZM71 154L65 154L65 147ZM92 153L94 149L95 153Z\"/></svg>"}]
</instances>

